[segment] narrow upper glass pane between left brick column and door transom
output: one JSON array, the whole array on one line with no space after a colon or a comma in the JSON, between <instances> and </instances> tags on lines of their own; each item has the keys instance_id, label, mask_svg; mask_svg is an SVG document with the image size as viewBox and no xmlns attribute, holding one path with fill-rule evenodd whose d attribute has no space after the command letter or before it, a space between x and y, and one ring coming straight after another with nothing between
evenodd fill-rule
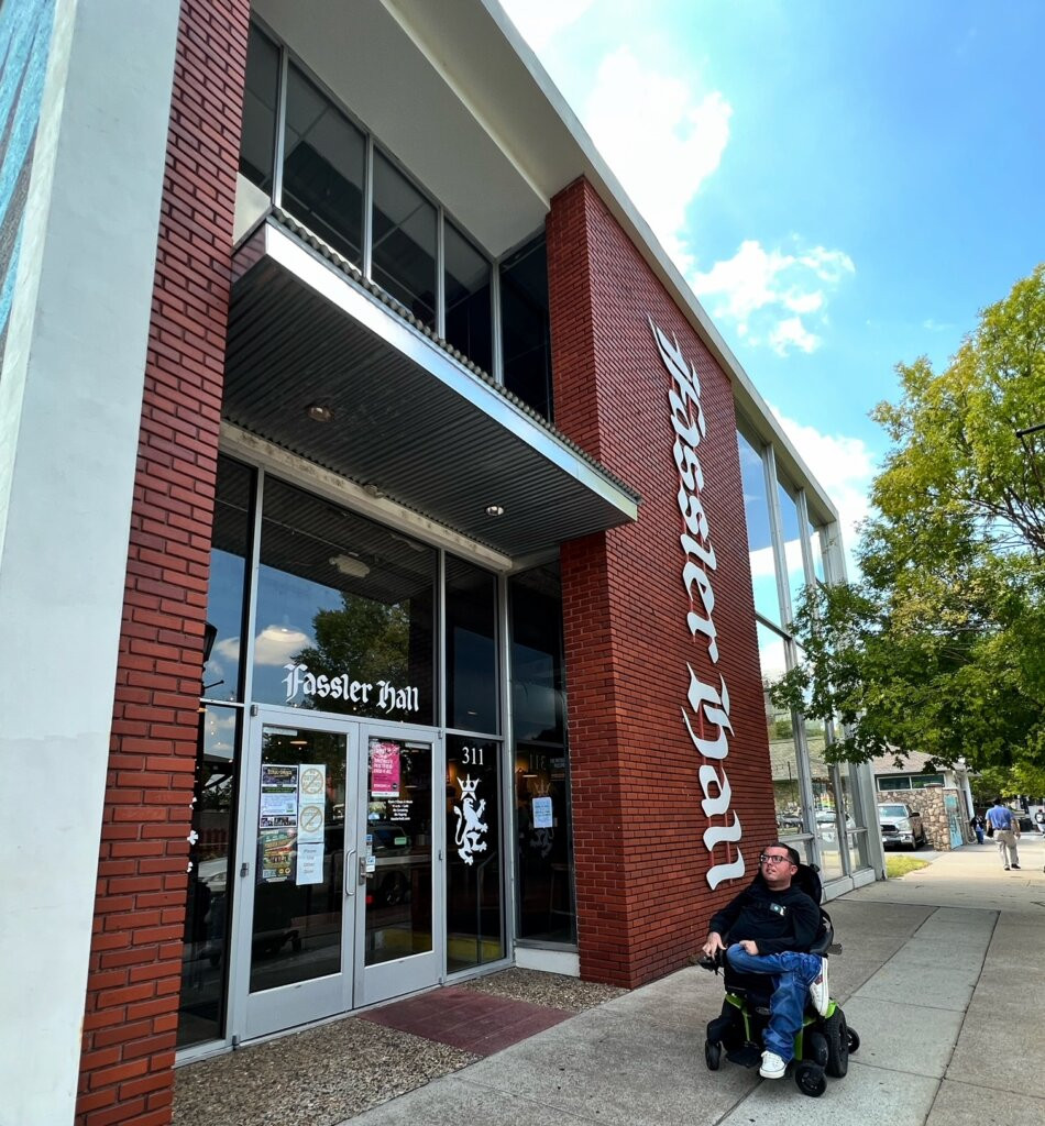
<instances>
[{"instance_id":1,"label":"narrow upper glass pane between left brick column and door transom","mask_svg":"<svg viewBox=\"0 0 1045 1126\"><path fill-rule=\"evenodd\" d=\"M241 634L250 529L253 470L227 457L217 459L211 581L207 587L207 643L203 695L208 699L240 698Z\"/></svg>"}]
</instances>

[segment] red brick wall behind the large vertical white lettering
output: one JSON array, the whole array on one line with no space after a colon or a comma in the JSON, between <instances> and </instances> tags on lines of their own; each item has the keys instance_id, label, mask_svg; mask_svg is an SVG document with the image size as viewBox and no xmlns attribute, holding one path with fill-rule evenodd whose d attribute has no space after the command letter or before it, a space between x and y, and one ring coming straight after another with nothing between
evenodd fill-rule
<instances>
[{"instance_id":1,"label":"red brick wall behind the large vertical white lettering","mask_svg":"<svg viewBox=\"0 0 1045 1126\"><path fill-rule=\"evenodd\" d=\"M556 425L643 499L637 524L562 549L581 975L634 986L685 964L776 834L736 422L729 378L586 181L553 200L547 247ZM686 624L672 384L647 318L678 338L700 381L717 664ZM723 676L731 698L722 766L747 875L714 893L702 837L732 814L700 808L687 662L704 681ZM720 844L714 863L735 856Z\"/></svg>"}]
</instances>

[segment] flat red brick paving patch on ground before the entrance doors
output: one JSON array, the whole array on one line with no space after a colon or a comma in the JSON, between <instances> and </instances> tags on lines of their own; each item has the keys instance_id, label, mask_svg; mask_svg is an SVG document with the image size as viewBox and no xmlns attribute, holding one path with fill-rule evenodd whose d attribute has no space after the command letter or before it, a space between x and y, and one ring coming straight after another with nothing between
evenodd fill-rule
<instances>
[{"instance_id":1,"label":"flat red brick paving patch on ground before the entrance doors","mask_svg":"<svg viewBox=\"0 0 1045 1126\"><path fill-rule=\"evenodd\" d=\"M543 1004L447 985L363 1012L359 1019L488 1056L572 1016L574 1013Z\"/></svg>"}]
</instances>

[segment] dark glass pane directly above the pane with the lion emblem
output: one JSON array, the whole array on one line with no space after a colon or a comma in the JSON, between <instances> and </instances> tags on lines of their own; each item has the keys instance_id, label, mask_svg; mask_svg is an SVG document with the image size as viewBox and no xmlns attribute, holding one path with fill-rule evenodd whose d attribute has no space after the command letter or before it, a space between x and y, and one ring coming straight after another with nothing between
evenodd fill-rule
<instances>
[{"instance_id":1,"label":"dark glass pane directly above the pane with the lion emblem","mask_svg":"<svg viewBox=\"0 0 1045 1126\"><path fill-rule=\"evenodd\" d=\"M446 557L446 715L465 731L500 732L497 692L497 580Z\"/></svg>"}]
</instances>

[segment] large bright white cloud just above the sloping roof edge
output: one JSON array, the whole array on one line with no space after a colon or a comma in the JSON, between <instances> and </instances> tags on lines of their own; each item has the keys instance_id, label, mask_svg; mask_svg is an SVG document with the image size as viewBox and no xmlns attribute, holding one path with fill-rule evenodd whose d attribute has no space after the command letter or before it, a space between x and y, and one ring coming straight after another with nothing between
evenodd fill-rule
<instances>
[{"instance_id":1,"label":"large bright white cloud just above the sloping roof edge","mask_svg":"<svg viewBox=\"0 0 1045 1126\"><path fill-rule=\"evenodd\" d=\"M687 271L686 209L718 168L732 109L718 92L703 97L690 78L620 47L599 64L582 117L654 234Z\"/></svg>"}]
</instances>

